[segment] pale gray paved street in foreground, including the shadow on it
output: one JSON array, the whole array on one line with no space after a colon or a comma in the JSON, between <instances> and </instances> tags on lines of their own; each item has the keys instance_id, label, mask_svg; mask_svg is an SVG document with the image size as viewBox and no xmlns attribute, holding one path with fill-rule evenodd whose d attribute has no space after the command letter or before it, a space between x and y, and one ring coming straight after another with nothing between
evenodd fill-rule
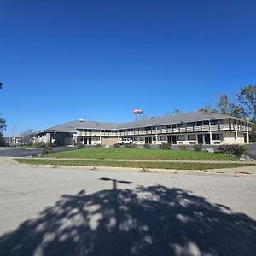
<instances>
[{"instance_id":1,"label":"pale gray paved street in foreground, including the shadow on it","mask_svg":"<svg viewBox=\"0 0 256 256\"><path fill-rule=\"evenodd\" d=\"M108 170L0 166L0 255L256 255L256 177Z\"/></svg>"}]
</instances>

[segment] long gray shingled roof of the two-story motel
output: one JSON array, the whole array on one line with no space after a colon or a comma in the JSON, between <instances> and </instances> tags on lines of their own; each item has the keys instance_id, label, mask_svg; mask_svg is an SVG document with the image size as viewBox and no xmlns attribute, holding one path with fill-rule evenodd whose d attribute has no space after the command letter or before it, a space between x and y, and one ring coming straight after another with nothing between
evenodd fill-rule
<instances>
[{"instance_id":1,"label":"long gray shingled roof of the two-story motel","mask_svg":"<svg viewBox=\"0 0 256 256\"><path fill-rule=\"evenodd\" d=\"M117 130L117 129L131 129L139 128L144 126L154 126L154 125L172 125L177 123L190 123L195 121L212 120L212 119L226 119L231 118L228 115L223 115L219 113L202 113L202 112L192 112L192 113L178 113L171 116L161 116L155 117L147 120L138 120L128 123L107 123L107 122L97 122L97 121L80 121L75 120L63 125L56 125L50 127L44 131L76 131L77 129L102 129L102 130ZM42 132L42 131L41 131Z\"/></svg>"}]
</instances>

